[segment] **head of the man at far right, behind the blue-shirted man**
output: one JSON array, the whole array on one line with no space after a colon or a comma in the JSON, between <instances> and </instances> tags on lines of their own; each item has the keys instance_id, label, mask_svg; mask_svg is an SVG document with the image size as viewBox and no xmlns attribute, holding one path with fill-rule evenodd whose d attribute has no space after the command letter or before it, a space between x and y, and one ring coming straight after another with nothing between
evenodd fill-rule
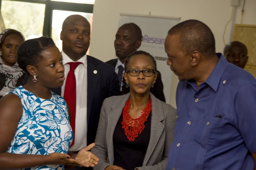
<instances>
[{"instance_id":1,"label":"head of the man at far right, behind the blue-shirted man","mask_svg":"<svg viewBox=\"0 0 256 170\"><path fill-rule=\"evenodd\" d=\"M248 61L247 47L239 41L232 41L228 43L223 51L223 55L227 61L238 67L245 68Z\"/></svg>"}]
</instances>

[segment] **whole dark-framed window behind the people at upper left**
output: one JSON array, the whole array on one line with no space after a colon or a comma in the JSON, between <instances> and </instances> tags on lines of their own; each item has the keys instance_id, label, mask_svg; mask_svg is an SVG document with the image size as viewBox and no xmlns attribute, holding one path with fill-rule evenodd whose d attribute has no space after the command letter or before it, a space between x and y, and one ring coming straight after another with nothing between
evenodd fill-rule
<instances>
[{"instance_id":1,"label":"whole dark-framed window behind the people at upper left","mask_svg":"<svg viewBox=\"0 0 256 170\"><path fill-rule=\"evenodd\" d=\"M92 26L94 1L0 0L0 31L7 28L18 30L26 40L40 36L52 37L56 46L62 50L62 22L69 15L79 14Z\"/></svg>"}]
</instances>

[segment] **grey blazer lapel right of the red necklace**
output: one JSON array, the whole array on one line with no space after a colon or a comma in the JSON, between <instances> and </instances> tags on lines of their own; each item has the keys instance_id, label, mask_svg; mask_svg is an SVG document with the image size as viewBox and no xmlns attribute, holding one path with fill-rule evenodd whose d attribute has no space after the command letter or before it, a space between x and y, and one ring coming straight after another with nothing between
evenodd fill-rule
<instances>
[{"instance_id":1,"label":"grey blazer lapel right of the red necklace","mask_svg":"<svg viewBox=\"0 0 256 170\"><path fill-rule=\"evenodd\" d=\"M161 122L162 120L164 120L162 104L159 100L157 100L157 98L154 95L152 95L152 93L150 93L150 97L152 101L150 140L143 161L143 166L146 166L164 130L164 125Z\"/></svg>"}]
</instances>

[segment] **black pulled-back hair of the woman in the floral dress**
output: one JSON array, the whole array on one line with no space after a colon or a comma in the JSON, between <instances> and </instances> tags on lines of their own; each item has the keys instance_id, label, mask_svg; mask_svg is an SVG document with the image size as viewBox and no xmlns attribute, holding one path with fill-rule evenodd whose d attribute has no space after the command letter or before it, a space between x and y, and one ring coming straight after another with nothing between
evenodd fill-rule
<instances>
[{"instance_id":1,"label":"black pulled-back hair of the woman in the floral dress","mask_svg":"<svg viewBox=\"0 0 256 170\"><path fill-rule=\"evenodd\" d=\"M38 61L42 60L41 53L50 47L56 47L52 38L40 37L26 40L18 48L17 63L29 75L26 69L27 65L37 67Z\"/></svg>"}]
</instances>

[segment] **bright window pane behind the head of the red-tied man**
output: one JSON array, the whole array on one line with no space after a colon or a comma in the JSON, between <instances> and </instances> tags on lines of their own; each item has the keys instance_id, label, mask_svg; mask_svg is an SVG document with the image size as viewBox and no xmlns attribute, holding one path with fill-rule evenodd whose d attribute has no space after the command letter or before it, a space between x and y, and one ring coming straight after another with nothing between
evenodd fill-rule
<instances>
[{"instance_id":1,"label":"bright window pane behind the head of the red-tied man","mask_svg":"<svg viewBox=\"0 0 256 170\"><path fill-rule=\"evenodd\" d=\"M92 34L93 14L84 13L84 12L53 10L53 13L52 13L52 39L60 51L62 50L62 41L60 40L60 32L62 29L62 23L68 16L75 15L75 14L82 15L90 22L91 34ZM87 54L89 54L89 50L90 50L90 47L87 51Z\"/></svg>"}]
</instances>

